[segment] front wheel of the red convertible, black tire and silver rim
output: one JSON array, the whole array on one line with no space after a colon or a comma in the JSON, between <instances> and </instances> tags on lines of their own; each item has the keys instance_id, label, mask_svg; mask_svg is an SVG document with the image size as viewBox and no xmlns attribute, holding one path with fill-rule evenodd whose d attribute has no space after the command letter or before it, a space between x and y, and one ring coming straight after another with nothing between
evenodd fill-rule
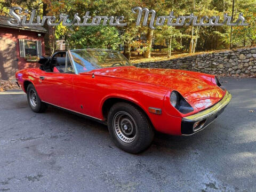
<instances>
[{"instance_id":1,"label":"front wheel of the red convertible, black tire and silver rim","mask_svg":"<svg viewBox=\"0 0 256 192\"><path fill-rule=\"evenodd\" d=\"M153 126L137 106L125 102L116 103L110 108L107 121L111 139L126 152L140 153L153 141Z\"/></svg>"}]
</instances>

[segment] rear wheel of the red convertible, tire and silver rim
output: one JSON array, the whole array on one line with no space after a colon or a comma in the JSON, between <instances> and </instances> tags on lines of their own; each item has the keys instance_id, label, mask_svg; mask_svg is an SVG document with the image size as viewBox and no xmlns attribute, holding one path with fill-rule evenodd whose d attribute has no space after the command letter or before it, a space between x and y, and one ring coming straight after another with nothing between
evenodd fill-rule
<instances>
[{"instance_id":1,"label":"rear wheel of the red convertible, tire and silver rim","mask_svg":"<svg viewBox=\"0 0 256 192\"><path fill-rule=\"evenodd\" d=\"M41 101L34 85L31 83L27 87L27 99L29 107L35 113L43 113L47 109L47 104Z\"/></svg>"}]
</instances>

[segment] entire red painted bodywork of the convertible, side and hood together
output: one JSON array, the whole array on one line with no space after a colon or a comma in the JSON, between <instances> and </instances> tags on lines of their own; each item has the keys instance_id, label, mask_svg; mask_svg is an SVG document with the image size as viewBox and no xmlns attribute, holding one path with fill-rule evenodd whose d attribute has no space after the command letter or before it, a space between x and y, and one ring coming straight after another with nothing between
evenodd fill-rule
<instances>
[{"instance_id":1,"label":"entire red painted bodywork of the convertible, side and hood together","mask_svg":"<svg viewBox=\"0 0 256 192\"><path fill-rule=\"evenodd\" d=\"M33 83L42 101L102 121L106 120L103 117L102 106L109 98L133 102L145 111L157 131L173 135L181 134L183 117L214 105L225 95L225 91L212 82L214 78L212 75L186 71L184 76L183 71L174 71L174 73L171 70L158 71L160 75L157 75L156 70L150 70L152 79L147 75L150 81L147 83L142 81L146 77L142 72L145 73L146 70L138 71L139 69L134 67L122 69L117 67L82 74L65 74L49 73L41 69L25 69L18 71L16 76L25 92L24 82ZM114 73L116 75L113 75ZM188 81L186 84L185 80ZM196 90L199 86L203 89ZM170 93L177 89L185 95L194 111L182 114L171 106ZM149 113L149 107L161 109L162 114Z\"/></svg>"}]
</instances>

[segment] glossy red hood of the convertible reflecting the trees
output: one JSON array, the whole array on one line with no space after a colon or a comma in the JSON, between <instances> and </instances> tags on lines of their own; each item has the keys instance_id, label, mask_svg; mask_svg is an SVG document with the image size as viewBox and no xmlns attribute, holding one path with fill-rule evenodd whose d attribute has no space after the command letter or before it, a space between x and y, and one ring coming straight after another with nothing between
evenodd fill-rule
<instances>
[{"instance_id":1,"label":"glossy red hood of the convertible reflecting the trees","mask_svg":"<svg viewBox=\"0 0 256 192\"><path fill-rule=\"evenodd\" d=\"M102 75L129 79L177 90L198 110L217 103L225 92L212 83L211 75L175 69L149 69L137 67L112 67L90 71Z\"/></svg>"}]
</instances>

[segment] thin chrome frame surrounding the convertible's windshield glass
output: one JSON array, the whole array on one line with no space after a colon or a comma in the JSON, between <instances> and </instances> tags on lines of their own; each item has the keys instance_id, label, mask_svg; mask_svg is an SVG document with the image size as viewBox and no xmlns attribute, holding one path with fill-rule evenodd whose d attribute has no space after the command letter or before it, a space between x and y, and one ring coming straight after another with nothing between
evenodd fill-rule
<instances>
[{"instance_id":1,"label":"thin chrome frame surrounding the convertible's windshield glass","mask_svg":"<svg viewBox=\"0 0 256 192\"><path fill-rule=\"evenodd\" d=\"M122 55L122 53L121 52L119 52L119 51L115 51L115 50L109 50L109 49L73 49L73 50L68 50L67 52L68 52L68 55L69 55L69 57L70 57L70 60L71 60L71 63L72 63L72 65L73 65L73 67L74 67L74 70L75 70L75 74L79 74L78 73L78 70L77 70L77 68L76 68L76 63L75 63L75 60L74 60L74 57L73 57L73 54L71 53L71 51L83 51L83 50L95 50L95 51L97 51L97 50L102 50L102 51L111 51L111 52L117 52L118 54L121 54ZM129 64L130 64L130 66L132 66L132 64L131 64L131 62L124 56L124 55L122 55L123 56L123 58L125 59L125 61L127 61ZM117 67L127 67L127 66L117 66ZM102 67L102 68L99 68L99 69L104 69L104 68L111 68L111 67ZM97 69L97 68L95 68L95 69ZM94 69L92 69L92 70L94 70ZM89 71L84 71L84 72L80 72L80 73L89 73L90 71L92 71L92 70L89 70Z\"/></svg>"}]
</instances>

